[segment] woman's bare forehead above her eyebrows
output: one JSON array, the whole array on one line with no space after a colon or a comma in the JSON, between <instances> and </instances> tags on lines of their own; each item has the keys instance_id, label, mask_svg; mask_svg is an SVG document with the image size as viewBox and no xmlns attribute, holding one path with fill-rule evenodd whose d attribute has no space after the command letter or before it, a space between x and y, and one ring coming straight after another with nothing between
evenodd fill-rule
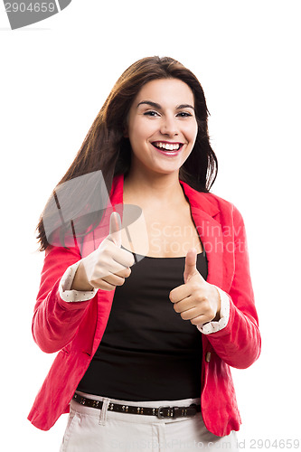
<instances>
[{"instance_id":1,"label":"woman's bare forehead above her eyebrows","mask_svg":"<svg viewBox=\"0 0 301 452\"><path fill-rule=\"evenodd\" d=\"M153 100L161 105L180 105L183 103L194 105L192 89L179 79L148 81L136 95L134 104L141 100Z\"/></svg>"}]
</instances>

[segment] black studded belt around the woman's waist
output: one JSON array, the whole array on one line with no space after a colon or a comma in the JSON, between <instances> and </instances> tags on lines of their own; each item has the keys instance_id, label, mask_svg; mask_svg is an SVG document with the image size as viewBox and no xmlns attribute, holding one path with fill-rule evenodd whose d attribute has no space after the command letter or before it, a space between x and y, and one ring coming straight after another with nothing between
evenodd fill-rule
<instances>
[{"instance_id":1,"label":"black studded belt around the woman's waist","mask_svg":"<svg viewBox=\"0 0 301 452\"><path fill-rule=\"evenodd\" d=\"M103 405L102 400L92 400L86 397L80 396L75 392L72 400L77 401L80 405L85 407L96 408L101 410ZM189 407L159 407L159 408L149 408L149 407L133 407L130 405L120 405L118 403L110 402L108 404L108 410L116 411L118 413L129 413L129 414L144 414L146 416L156 416L159 419L164 418L184 418L186 416L194 416L196 413L201 412L201 405L195 405L194 403Z\"/></svg>"}]
</instances>

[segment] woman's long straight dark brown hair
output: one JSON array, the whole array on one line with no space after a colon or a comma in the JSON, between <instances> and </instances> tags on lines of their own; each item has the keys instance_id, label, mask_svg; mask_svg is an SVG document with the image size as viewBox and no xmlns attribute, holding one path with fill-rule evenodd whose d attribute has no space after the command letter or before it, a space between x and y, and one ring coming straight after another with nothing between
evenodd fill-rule
<instances>
[{"instance_id":1,"label":"woman's long straight dark brown hair","mask_svg":"<svg viewBox=\"0 0 301 452\"><path fill-rule=\"evenodd\" d=\"M180 168L179 178L199 192L209 192L217 175L218 162L210 145L209 111L202 86L192 71L173 58L158 56L143 58L129 66L119 77L89 128L70 168L61 178L52 197L47 202L37 226L39 250L45 250L50 243L43 221L53 214L51 206L54 205L54 208L57 209L57 205L53 204L51 200L54 195L55 201L57 201L57 193L60 191L61 184L71 181L75 177L101 170L108 193L110 193L113 177L117 174L127 174L131 164L131 147L128 138L124 137L124 131L127 126L126 118L129 108L139 90L148 81L169 78L182 80L192 89L195 117L198 124L198 134L193 151ZM101 215L102 212L94 213L89 217L89 224L98 224ZM89 226L87 218L86 216L86 227ZM72 227L72 221L71 227L64 225L60 231L61 238L68 228L70 230ZM63 239L62 242L64 244Z\"/></svg>"}]
</instances>

